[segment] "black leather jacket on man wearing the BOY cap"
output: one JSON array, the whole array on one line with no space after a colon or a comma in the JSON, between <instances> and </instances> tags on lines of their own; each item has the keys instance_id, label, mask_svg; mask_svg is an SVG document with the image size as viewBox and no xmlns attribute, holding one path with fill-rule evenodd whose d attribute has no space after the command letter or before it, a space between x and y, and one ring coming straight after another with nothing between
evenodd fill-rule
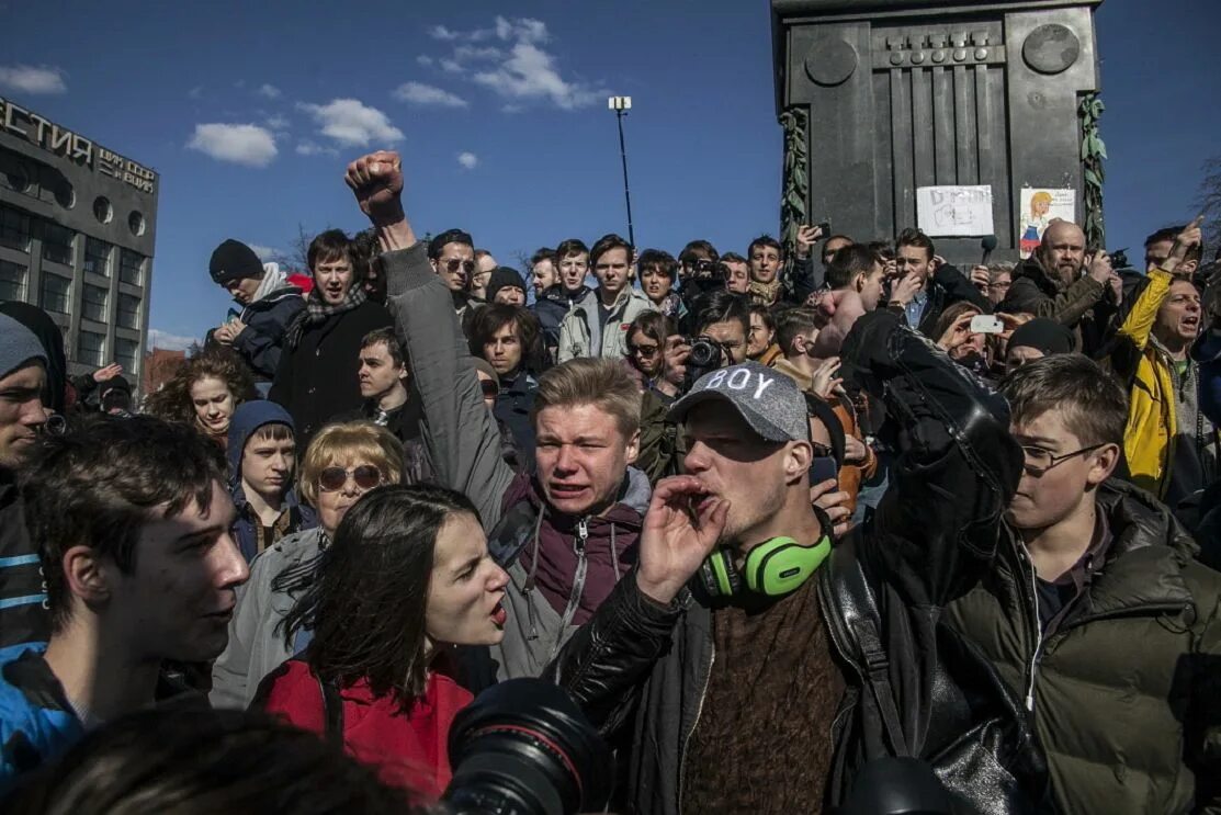
<instances>
[{"instance_id":1,"label":"black leather jacket on man wearing the BOY cap","mask_svg":"<svg viewBox=\"0 0 1221 815\"><path fill-rule=\"evenodd\" d=\"M961 811L1049 811L1020 700L940 623L941 608L995 556L1022 454L1004 400L900 320L862 317L844 345L847 376L885 400L900 458L874 522L818 575L849 684L828 722L830 803L842 803L867 761L912 755L934 766ZM711 667L711 611L698 593L661 608L630 578L549 666L603 733L632 721L632 811L683 811L683 755Z\"/></svg>"}]
</instances>

